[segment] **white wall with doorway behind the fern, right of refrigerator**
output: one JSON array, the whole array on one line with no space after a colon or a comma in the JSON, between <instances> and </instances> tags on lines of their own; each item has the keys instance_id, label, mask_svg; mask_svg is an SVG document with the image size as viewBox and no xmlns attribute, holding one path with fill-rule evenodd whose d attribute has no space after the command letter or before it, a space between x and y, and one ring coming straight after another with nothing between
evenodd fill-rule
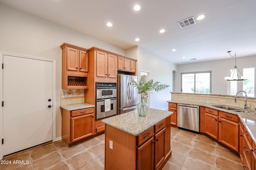
<instances>
[{"instance_id":1,"label":"white wall with doorway behind the fern, right of refrigerator","mask_svg":"<svg viewBox=\"0 0 256 170\"><path fill-rule=\"evenodd\" d=\"M150 72L150 79L159 81L162 84L167 84L170 87L156 92L152 90L150 94L150 107L155 109L167 109L168 103L166 101L171 99L170 91L172 90L172 71L177 70L177 65L154 55L145 49L138 47L138 61L137 73L140 77L140 70Z\"/></svg>"}]
</instances>

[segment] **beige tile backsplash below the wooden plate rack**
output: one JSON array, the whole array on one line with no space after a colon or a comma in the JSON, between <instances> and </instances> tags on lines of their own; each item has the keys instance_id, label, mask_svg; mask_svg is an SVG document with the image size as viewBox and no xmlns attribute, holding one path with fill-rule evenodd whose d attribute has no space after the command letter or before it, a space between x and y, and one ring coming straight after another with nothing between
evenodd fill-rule
<instances>
[{"instance_id":1,"label":"beige tile backsplash below the wooden plate rack","mask_svg":"<svg viewBox=\"0 0 256 170\"><path fill-rule=\"evenodd\" d=\"M84 103L84 89L61 89L60 90L60 105L78 104L78 103Z\"/></svg>"}]
</instances>

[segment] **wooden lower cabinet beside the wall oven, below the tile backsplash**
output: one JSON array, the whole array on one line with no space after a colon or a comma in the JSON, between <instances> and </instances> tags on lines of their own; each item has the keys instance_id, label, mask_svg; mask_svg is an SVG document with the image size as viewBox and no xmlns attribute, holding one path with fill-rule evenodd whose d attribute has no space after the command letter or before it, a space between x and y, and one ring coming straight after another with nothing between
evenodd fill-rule
<instances>
[{"instance_id":1,"label":"wooden lower cabinet beside the wall oven, below the tile backsplash","mask_svg":"<svg viewBox=\"0 0 256 170\"><path fill-rule=\"evenodd\" d=\"M69 147L94 135L94 107L68 111L62 109L62 141Z\"/></svg>"}]
</instances>

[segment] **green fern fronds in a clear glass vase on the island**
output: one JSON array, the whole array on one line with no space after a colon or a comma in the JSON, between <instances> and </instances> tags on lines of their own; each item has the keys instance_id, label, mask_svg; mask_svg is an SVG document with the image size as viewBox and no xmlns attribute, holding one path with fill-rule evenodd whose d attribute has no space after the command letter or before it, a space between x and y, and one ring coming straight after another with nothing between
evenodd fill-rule
<instances>
[{"instance_id":1,"label":"green fern fronds in a clear glass vase on the island","mask_svg":"<svg viewBox=\"0 0 256 170\"><path fill-rule=\"evenodd\" d=\"M139 116L145 117L147 110L148 110L148 104L144 102L145 95L148 95L148 93L151 90L155 90L156 92L160 92L161 90L166 89L169 87L166 84L161 84L160 82L156 81L154 82L152 79L148 82L146 81L146 76L142 75L140 77L140 80L136 82L134 79L131 78L130 80L131 84L138 89L138 94L140 94L140 103L138 103L138 113Z\"/></svg>"}]
</instances>

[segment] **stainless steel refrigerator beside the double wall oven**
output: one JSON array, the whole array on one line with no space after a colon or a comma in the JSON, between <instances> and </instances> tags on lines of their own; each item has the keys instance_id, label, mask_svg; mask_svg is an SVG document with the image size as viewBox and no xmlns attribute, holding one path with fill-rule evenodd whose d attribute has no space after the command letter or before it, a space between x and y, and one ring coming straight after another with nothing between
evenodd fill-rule
<instances>
[{"instance_id":1,"label":"stainless steel refrigerator beside the double wall oven","mask_svg":"<svg viewBox=\"0 0 256 170\"><path fill-rule=\"evenodd\" d=\"M138 81L137 76L118 74L118 115L137 109L138 90L131 84L130 78Z\"/></svg>"}]
</instances>

